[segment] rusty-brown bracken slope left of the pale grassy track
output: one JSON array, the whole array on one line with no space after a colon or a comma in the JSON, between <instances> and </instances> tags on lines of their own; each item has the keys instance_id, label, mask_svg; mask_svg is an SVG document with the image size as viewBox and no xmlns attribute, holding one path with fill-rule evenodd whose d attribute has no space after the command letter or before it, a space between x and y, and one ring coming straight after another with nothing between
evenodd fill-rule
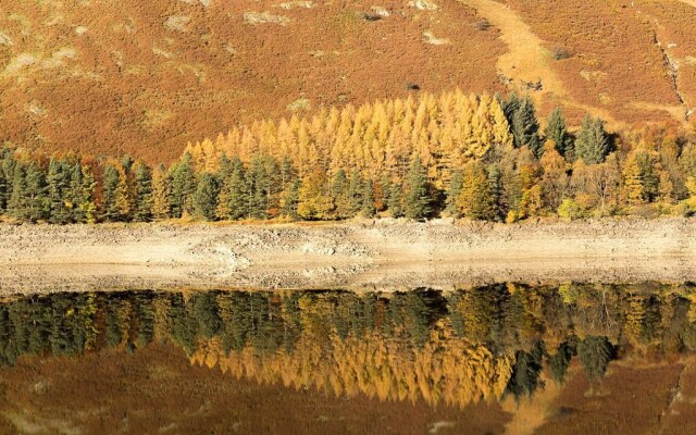
<instances>
[{"instance_id":1,"label":"rusty-brown bracken slope left of the pale grassy track","mask_svg":"<svg viewBox=\"0 0 696 435\"><path fill-rule=\"evenodd\" d=\"M167 161L188 140L289 116L296 101L406 97L407 83L502 90L505 45L455 0L435 11L381 1L389 16L376 22L360 16L368 0L11 3L0 7L0 138L47 151ZM247 24L245 13L289 21ZM427 30L451 44L426 44Z\"/></svg>"}]
</instances>

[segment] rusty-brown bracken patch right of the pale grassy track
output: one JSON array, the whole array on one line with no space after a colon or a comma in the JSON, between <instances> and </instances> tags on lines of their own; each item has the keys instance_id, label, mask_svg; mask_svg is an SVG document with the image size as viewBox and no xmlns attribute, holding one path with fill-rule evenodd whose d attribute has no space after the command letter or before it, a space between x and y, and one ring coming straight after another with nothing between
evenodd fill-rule
<instances>
[{"instance_id":1,"label":"rusty-brown bracken patch right of the pale grassy track","mask_svg":"<svg viewBox=\"0 0 696 435\"><path fill-rule=\"evenodd\" d=\"M597 114L602 110L627 123L684 122L685 108L680 109L662 50L656 44L652 25L641 11L641 1L505 3L521 15L545 47L563 47L573 53L555 62L554 69L581 108ZM679 4L674 0L660 3ZM691 27L686 17L674 25L685 32ZM587 78L587 73L593 77Z\"/></svg>"}]
</instances>

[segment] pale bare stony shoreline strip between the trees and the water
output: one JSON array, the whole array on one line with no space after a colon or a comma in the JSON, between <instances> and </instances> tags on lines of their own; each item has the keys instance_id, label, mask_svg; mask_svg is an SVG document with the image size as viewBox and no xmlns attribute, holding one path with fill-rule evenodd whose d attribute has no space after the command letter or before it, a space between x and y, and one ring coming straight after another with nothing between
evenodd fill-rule
<instances>
[{"instance_id":1,"label":"pale bare stony shoreline strip between the trees and the water","mask_svg":"<svg viewBox=\"0 0 696 435\"><path fill-rule=\"evenodd\" d=\"M451 288L683 282L696 221L0 226L0 295L120 288Z\"/></svg>"}]
</instances>

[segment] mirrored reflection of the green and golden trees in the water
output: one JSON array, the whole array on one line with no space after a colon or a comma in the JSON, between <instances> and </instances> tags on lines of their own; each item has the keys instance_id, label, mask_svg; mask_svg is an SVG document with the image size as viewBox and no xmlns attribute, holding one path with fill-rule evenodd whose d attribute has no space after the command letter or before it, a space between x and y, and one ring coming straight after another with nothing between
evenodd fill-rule
<instances>
[{"instance_id":1,"label":"mirrored reflection of the green and golden trees in the water","mask_svg":"<svg viewBox=\"0 0 696 435\"><path fill-rule=\"evenodd\" d=\"M693 351L695 297L692 284L572 283L17 297L0 304L0 363L171 341L237 378L465 407L562 384L573 361L599 384L612 360Z\"/></svg>"}]
</instances>

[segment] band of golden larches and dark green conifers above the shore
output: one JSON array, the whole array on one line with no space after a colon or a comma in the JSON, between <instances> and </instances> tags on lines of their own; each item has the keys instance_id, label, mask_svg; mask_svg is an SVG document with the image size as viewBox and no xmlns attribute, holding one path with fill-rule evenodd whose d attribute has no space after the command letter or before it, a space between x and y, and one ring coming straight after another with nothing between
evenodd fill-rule
<instances>
[{"instance_id":1,"label":"band of golden larches and dark green conifers above the shore","mask_svg":"<svg viewBox=\"0 0 696 435\"><path fill-rule=\"evenodd\" d=\"M54 224L172 219L468 217L512 223L696 212L696 140L609 133L527 97L423 94L259 121L169 166L0 150L0 215Z\"/></svg>"}]
</instances>

